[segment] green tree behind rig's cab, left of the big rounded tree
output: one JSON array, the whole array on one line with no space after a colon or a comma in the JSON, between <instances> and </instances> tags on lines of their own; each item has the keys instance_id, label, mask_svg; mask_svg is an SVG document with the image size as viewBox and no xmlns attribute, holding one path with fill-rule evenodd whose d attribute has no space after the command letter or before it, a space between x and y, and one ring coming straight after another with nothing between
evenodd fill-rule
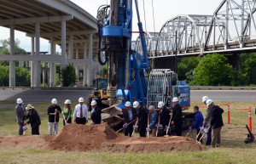
<instances>
[{"instance_id":1,"label":"green tree behind rig's cab, left of the big rounded tree","mask_svg":"<svg viewBox=\"0 0 256 164\"><path fill-rule=\"evenodd\" d=\"M180 81L192 81L192 72L198 65L198 57L186 57L182 58L177 63L177 76Z\"/></svg>"}]
</instances>

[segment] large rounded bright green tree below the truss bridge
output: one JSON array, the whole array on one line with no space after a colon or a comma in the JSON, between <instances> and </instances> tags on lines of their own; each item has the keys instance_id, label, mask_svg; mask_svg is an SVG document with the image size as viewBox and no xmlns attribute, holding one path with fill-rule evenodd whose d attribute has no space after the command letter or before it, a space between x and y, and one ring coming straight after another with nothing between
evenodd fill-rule
<instances>
[{"instance_id":1,"label":"large rounded bright green tree below the truss bridge","mask_svg":"<svg viewBox=\"0 0 256 164\"><path fill-rule=\"evenodd\" d=\"M207 54L195 68L195 83L201 86L239 86L244 80L223 54Z\"/></svg>"}]
</instances>

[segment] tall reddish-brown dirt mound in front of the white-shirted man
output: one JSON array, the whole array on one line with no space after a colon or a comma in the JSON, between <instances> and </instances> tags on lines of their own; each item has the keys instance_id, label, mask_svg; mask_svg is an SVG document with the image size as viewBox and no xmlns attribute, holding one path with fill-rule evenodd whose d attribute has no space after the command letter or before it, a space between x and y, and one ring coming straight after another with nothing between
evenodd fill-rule
<instances>
[{"instance_id":1,"label":"tall reddish-brown dirt mound in front of the white-shirted man","mask_svg":"<svg viewBox=\"0 0 256 164\"><path fill-rule=\"evenodd\" d=\"M53 150L94 150L102 146L102 143L119 138L119 134L106 124L84 126L68 124L63 127L55 139L49 140L49 148Z\"/></svg>"}]
</instances>

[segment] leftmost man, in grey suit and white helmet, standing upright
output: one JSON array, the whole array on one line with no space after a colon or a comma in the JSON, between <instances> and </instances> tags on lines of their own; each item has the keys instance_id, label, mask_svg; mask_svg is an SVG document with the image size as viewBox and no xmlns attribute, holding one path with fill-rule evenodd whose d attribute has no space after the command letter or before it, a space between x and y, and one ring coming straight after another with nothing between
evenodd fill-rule
<instances>
[{"instance_id":1,"label":"leftmost man, in grey suit and white helmet, standing upright","mask_svg":"<svg viewBox=\"0 0 256 164\"><path fill-rule=\"evenodd\" d=\"M24 109L24 106L22 105L23 101L22 99L17 99L17 106L15 107L15 113L16 113L16 122L19 125L19 135L23 134L23 126L24 126L24 120L26 120L26 110Z\"/></svg>"}]
</instances>

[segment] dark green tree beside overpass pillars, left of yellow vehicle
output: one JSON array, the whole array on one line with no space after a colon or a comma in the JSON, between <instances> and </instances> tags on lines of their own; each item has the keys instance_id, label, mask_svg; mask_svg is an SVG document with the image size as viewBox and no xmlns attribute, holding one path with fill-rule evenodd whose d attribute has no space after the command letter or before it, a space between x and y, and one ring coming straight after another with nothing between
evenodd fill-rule
<instances>
[{"instance_id":1,"label":"dark green tree beside overpass pillars, left of yellow vehicle","mask_svg":"<svg viewBox=\"0 0 256 164\"><path fill-rule=\"evenodd\" d=\"M66 68L61 70L61 82L63 87L71 87L76 84L77 76L73 65L69 64Z\"/></svg>"}]
</instances>

